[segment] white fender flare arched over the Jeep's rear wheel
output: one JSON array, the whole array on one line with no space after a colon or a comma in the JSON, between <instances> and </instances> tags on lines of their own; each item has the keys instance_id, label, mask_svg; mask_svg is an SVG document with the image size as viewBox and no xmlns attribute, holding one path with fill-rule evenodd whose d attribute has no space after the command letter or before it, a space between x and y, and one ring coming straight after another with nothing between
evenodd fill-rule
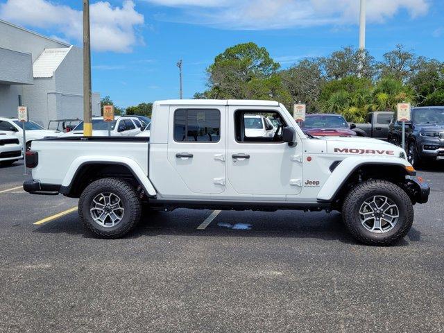
<instances>
[{"instance_id":1,"label":"white fender flare arched over the Jeep's rear wheel","mask_svg":"<svg viewBox=\"0 0 444 333\"><path fill-rule=\"evenodd\" d=\"M157 194L155 188L153 187L153 184L151 183L151 180L149 180L142 167L140 167L139 164L135 162L135 160L132 160L128 157L117 156L83 156L76 158L76 160L71 163L71 166L65 174L65 178L63 178L60 191L61 193L69 193L69 191L71 190L71 186L76 178L76 174L82 167L88 164L123 165L124 167L127 167L131 171L131 173L133 173L133 176L135 176L135 178L139 181L140 185L142 185L145 193L148 196L153 197Z\"/></svg>"}]
</instances>

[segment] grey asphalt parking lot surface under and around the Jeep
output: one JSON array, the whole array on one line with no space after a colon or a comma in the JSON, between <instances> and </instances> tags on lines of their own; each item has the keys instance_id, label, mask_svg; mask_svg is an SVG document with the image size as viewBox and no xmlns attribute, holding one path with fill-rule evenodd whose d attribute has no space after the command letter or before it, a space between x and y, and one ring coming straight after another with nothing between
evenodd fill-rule
<instances>
[{"instance_id":1,"label":"grey asphalt parking lot surface under and around the Jeep","mask_svg":"<svg viewBox=\"0 0 444 333\"><path fill-rule=\"evenodd\" d=\"M444 165L419 174L429 203L377 248L325 212L176 210L94 239L76 210L46 219L76 199L0 168L0 332L443 332Z\"/></svg>"}]
</instances>

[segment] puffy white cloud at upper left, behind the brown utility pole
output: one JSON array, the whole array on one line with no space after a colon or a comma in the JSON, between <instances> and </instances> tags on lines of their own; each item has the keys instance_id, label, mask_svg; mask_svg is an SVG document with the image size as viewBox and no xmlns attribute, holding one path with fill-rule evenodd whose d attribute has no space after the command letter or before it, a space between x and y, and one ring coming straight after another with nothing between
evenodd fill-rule
<instances>
[{"instance_id":1,"label":"puffy white cloud at upper left, behind the brown utility pole","mask_svg":"<svg viewBox=\"0 0 444 333\"><path fill-rule=\"evenodd\" d=\"M91 46L96 51L130 52L139 42L135 26L144 16L132 0L121 7L98 1L90 5ZM82 42L82 12L47 0L7 0L0 4L0 17L31 28L51 29L64 40Z\"/></svg>"}]
</instances>

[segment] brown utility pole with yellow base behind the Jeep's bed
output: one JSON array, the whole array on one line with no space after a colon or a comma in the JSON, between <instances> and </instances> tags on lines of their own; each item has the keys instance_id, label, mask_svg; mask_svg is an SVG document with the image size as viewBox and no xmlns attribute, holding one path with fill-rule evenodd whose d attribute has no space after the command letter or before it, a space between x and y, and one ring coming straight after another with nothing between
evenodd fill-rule
<instances>
[{"instance_id":1,"label":"brown utility pole with yellow base behind the Jeep's bed","mask_svg":"<svg viewBox=\"0 0 444 333\"><path fill-rule=\"evenodd\" d=\"M92 136L89 0L83 0L83 136Z\"/></svg>"}]
</instances>

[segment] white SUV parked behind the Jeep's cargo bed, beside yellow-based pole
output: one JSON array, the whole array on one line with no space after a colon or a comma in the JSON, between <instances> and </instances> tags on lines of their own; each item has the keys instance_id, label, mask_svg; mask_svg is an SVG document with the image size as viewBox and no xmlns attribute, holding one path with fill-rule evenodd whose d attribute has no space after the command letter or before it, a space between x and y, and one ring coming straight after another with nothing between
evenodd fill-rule
<instances>
[{"instance_id":1,"label":"white SUV parked behind the Jeep's cargo bed, beside yellow-based pole","mask_svg":"<svg viewBox=\"0 0 444 333\"><path fill-rule=\"evenodd\" d=\"M92 136L93 137L107 137L108 128L110 128L110 135L112 137L135 137L140 133L142 124L137 117L119 117L116 116L114 121L105 122L103 117L92 117ZM83 135L83 121L80 122L74 130L65 133L62 137L80 137Z\"/></svg>"}]
</instances>

